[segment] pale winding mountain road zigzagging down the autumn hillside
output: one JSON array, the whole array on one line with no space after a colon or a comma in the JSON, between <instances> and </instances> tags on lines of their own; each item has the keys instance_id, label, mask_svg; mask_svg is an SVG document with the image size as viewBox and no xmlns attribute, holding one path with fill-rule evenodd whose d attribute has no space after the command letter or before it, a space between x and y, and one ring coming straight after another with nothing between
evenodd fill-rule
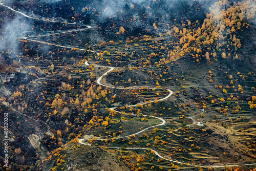
<instances>
[{"instance_id":1,"label":"pale winding mountain road zigzagging down the autumn hillside","mask_svg":"<svg viewBox=\"0 0 256 171\"><path fill-rule=\"evenodd\" d=\"M14 12L17 12L17 13L19 13L19 14L22 14L22 15L24 15L25 17L28 17L28 18L31 18L31 19L38 19L38 18L34 18L34 17L31 17L31 16L28 16L27 14L24 14L24 13L22 13L22 12L20 12L20 11L16 11L16 10L14 10L13 8L11 8L11 7L9 7L9 6L4 5L3 3L0 3L0 5L1 5L1 6L4 6L4 7L6 7L6 8L8 8L8 9L14 11ZM39 20L42 20L42 21L44 21L44 22L54 22L54 21L49 21L49 20L46 20L46 19L39 19ZM55 23L61 23L61 22L55 22ZM76 23L67 23L67 24L75 25ZM81 26L82 26L82 25L81 25ZM86 25L84 25L84 26L86 26ZM86 27L92 28L91 26L86 26ZM72 30L72 31L81 31L81 30L83 30L83 29L77 29L77 30ZM63 34L63 33L68 33L68 32L72 32L72 31L53 33L52 35L54 35L54 34ZM47 34L47 35L49 35L49 34ZM47 36L47 35L41 35L41 36ZM48 44L48 45L52 45L52 46L58 46L58 47L62 47L62 48L69 48L69 49L73 48L73 47L65 47L65 46L60 46L60 45L55 45L55 44L49 44L48 42L30 39L30 38L32 38L32 37L39 37L39 36L40 36L40 35L38 35L38 36L31 36L31 37L22 37L22 38L20 38L20 39L26 39L26 40L35 41L35 42L39 42L39 43L42 43L42 44ZM79 50L83 50L83 51L84 51L85 49L79 49ZM88 51L88 50L87 50L87 51ZM96 52L94 52L94 51L91 51L91 52L96 53ZM86 65L89 65L88 61L86 62ZM95 65L95 66L97 66L97 65ZM106 66L99 66L99 67L106 67ZM105 87L108 87L108 88L124 89L124 88L118 88L118 87L116 88L116 87L112 87L112 86L106 86L106 85L100 83L100 81L101 81L101 79L102 79L102 77L103 77L104 75L109 74L111 71L113 71L113 70L115 69L115 68L113 68L113 67L108 67L108 68L110 68L110 70L108 70L108 71L105 72L102 76L100 76L100 77L97 79L97 83L100 84L101 86L105 86ZM134 88L139 88L139 87L130 87L130 88L126 88L126 89L134 89ZM148 88L148 89L153 89L153 88ZM169 92L169 94L168 94L166 97L164 97L164 98L162 98L162 99L159 99L159 101L165 100L165 99L169 98L169 97L173 94L173 92L170 91L169 89L167 89L167 91ZM154 102L154 101L152 101L152 102ZM138 103L138 104L146 104L146 103L147 103L147 102L145 102L145 103ZM136 104L135 104L135 105L136 105ZM135 105L129 105L129 106L135 106ZM110 109L111 109L111 110L114 110L115 108L110 108ZM120 113L119 111L116 111L116 110L114 110L114 111ZM125 115L129 115L129 114L126 114L126 113L125 113ZM134 115L134 116L138 116L138 115ZM144 115L144 116L146 116L146 115ZM132 135L140 134L140 133L142 133L142 132L144 132L144 131L146 131L146 130L148 130L148 129L151 129L152 127L161 126L161 125L164 125L164 124L166 123L166 121L165 121L164 119L160 118L160 117L156 117L156 116L152 116L152 117L161 120L162 123L157 124L157 125L154 125L154 126L147 127L146 129L141 130L140 132L137 132L137 133L132 134ZM194 124L196 123L196 121L195 121L195 119L193 119L193 117L188 117L188 118L190 118L191 120L193 120ZM132 135L129 135L129 136L132 136ZM129 137L129 136L125 136L125 137ZM125 137L119 137L119 138L125 138ZM119 139L119 138L117 138L117 139ZM90 146L91 146L91 144L83 142L84 140L87 140L87 139L79 139L79 143L80 143L80 144L83 144L83 145L90 145ZM102 139L99 138L99 139L97 139L97 140L105 140L105 139L104 139L104 138L102 138ZM122 149L121 147L111 147L111 146L108 146L108 147L106 147L106 148ZM132 147L132 148L125 148L125 149L144 149L144 150L147 150L148 148ZM164 158L164 157L161 156L157 151L155 151L155 150L153 150L153 149L152 149L152 151L155 152L155 155L157 155L158 157ZM168 160L168 159L167 159L167 158L164 158L164 160ZM178 163L178 164L181 164L181 163L182 163L182 162L177 161L177 160L170 160L170 159L169 159L169 161L174 162L174 163ZM195 166L195 165L192 165L192 164L187 164L187 165L188 165L188 166ZM209 167L224 167L224 166L229 167L229 166L249 166L249 165L256 165L256 163L250 163L250 164L222 164L222 165L207 165L207 166L206 166L206 165L200 165L200 166L201 166L201 167L209 168ZM197 165L197 166L198 166L198 165Z\"/></svg>"}]
</instances>

